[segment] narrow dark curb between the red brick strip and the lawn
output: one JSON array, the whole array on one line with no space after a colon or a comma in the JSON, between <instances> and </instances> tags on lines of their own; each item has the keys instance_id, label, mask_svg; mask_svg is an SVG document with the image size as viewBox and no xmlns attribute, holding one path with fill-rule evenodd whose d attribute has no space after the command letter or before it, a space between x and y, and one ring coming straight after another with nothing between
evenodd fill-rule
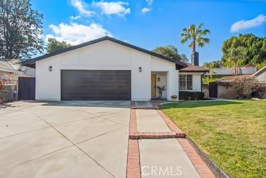
<instances>
[{"instance_id":1,"label":"narrow dark curb between the red brick strip and the lawn","mask_svg":"<svg viewBox=\"0 0 266 178\"><path fill-rule=\"evenodd\" d=\"M193 142L188 136L186 136L186 139L190 143L190 145L193 147L193 149L196 151L198 155L202 158L202 160L208 165L208 167L217 175L219 178L230 178L230 176L224 172L198 145Z\"/></svg>"}]
</instances>

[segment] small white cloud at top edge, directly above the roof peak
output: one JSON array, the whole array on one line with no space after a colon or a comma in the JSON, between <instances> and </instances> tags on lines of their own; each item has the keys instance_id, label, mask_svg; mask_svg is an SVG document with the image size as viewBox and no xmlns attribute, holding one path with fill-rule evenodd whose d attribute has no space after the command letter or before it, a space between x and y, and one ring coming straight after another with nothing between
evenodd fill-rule
<instances>
[{"instance_id":1,"label":"small white cloud at top edge, directly above the roof peak","mask_svg":"<svg viewBox=\"0 0 266 178\"><path fill-rule=\"evenodd\" d=\"M126 2L93 2L94 6L102 9L103 14L112 15L116 14L119 16L124 16L125 14L130 14L130 8L125 8L129 4Z\"/></svg>"}]
</instances>

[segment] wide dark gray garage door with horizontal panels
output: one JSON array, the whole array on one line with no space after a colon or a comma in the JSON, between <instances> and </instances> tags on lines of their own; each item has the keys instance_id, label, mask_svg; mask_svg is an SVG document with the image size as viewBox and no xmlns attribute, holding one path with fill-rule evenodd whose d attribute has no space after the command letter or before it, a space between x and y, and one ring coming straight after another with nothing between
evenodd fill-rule
<instances>
[{"instance_id":1,"label":"wide dark gray garage door with horizontal panels","mask_svg":"<svg viewBox=\"0 0 266 178\"><path fill-rule=\"evenodd\" d=\"M61 70L61 100L130 100L131 71Z\"/></svg>"}]
</instances>

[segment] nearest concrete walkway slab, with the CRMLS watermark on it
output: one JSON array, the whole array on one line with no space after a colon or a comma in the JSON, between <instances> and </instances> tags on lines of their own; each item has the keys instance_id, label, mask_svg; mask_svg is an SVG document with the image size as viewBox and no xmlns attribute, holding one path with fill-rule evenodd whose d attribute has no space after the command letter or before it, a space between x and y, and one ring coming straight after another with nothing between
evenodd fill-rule
<instances>
[{"instance_id":1,"label":"nearest concrete walkway slab, with the CRMLS watermark on it","mask_svg":"<svg viewBox=\"0 0 266 178\"><path fill-rule=\"evenodd\" d=\"M200 177L175 138L139 140L142 178Z\"/></svg>"}]
</instances>

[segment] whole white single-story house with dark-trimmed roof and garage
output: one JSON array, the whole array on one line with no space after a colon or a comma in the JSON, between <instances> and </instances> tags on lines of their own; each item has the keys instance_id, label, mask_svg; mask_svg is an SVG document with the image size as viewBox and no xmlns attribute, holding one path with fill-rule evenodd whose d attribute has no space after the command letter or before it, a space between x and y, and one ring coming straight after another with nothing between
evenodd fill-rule
<instances>
[{"instance_id":1,"label":"whole white single-story house with dark-trimmed roof and garage","mask_svg":"<svg viewBox=\"0 0 266 178\"><path fill-rule=\"evenodd\" d=\"M197 62L198 63L198 62ZM36 68L36 100L171 100L202 91L208 70L102 37L23 62Z\"/></svg>"}]
</instances>

